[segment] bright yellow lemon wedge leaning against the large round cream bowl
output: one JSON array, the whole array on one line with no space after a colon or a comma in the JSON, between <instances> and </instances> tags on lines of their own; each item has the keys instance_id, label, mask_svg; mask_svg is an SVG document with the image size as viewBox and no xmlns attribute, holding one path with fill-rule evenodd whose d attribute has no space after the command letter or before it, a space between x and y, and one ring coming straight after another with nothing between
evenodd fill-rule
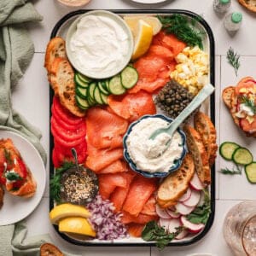
<instances>
[{"instance_id":1,"label":"bright yellow lemon wedge leaning against the large round cream bowl","mask_svg":"<svg viewBox=\"0 0 256 256\"><path fill-rule=\"evenodd\" d=\"M137 36L131 59L135 60L145 54L153 38L153 28L144 20L138 20Z\"/></svg>"}]
</instances>

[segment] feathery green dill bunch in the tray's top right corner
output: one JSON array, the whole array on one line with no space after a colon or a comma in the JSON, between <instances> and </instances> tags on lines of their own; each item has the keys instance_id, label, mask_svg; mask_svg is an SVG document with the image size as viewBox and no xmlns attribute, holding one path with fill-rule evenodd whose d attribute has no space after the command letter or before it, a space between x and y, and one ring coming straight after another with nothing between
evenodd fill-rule
<instances>
[{"instance_id":1,"label":"feathery green dill bunch in the tray's top right corner","mask_svg":"<svg viewBox=\"0 0 256 256\"><path fill-rule=\"evenodd\" d=\"M158 15L158 19L167 33L175 34L179 40L189 46L198 45L200 49L203 49L202 36L205 32L195 29L198 19L194 18L189 21L187 17L179 14L171 16Z\"/></svg>"}]
</instances>

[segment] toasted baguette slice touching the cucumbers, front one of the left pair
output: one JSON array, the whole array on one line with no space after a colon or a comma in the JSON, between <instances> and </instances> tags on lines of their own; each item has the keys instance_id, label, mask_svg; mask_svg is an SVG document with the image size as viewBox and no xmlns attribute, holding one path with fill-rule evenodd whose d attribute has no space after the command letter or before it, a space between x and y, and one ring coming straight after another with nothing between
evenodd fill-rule
<instances>
[{"instance_id":1,"label":"toasted baguette slice touching the cucumbers, front one of the left pair","mask_svg":"<svg viewBox=\"0 0 256 256\"><path fill-rule=\"evenodd\" d=\"M78 107L75 99L74 72L69 61L63 58L55 58L52 63L52 73L49 77L49 83L55 90L55 95L60 97L61 105L74 115L83 117L85 111Z\"/></svg>"}]
</instances>

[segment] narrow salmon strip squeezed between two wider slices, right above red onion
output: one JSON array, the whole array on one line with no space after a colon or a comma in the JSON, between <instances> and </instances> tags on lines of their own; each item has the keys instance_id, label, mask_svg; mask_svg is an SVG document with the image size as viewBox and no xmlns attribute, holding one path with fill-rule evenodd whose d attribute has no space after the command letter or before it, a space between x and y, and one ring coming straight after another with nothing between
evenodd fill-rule
<instances>
[{"instance_id":1,"label":"narrow salmon strip squeezed between two wider slices, right above red onion","mask_svg":"<svg viewBox=\"0 0 256 256\"><path fill-rule=\"evenodd\" d=\"M135 176L136 176L136 173L132 171L125 173L127 186L125 188L118 187L113 190L113 193L111 194L109 200L113 202L113 206L115 207L116 212L121 211L123 204L125 202L126 196L128 194L131 181Z\"/></svg>"}]
</instances>

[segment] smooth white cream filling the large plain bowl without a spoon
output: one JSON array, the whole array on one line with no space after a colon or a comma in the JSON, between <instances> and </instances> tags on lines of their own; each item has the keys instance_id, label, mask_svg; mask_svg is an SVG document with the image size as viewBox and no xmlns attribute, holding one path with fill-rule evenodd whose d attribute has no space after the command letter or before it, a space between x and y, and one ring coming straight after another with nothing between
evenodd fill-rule
<instances>
[{"instance_id":1,"label":"smooth white cream filling the large plain bowl without a spoon","mask_svg":"<svg viewBox=\"0 0 256 256\"><path fill-rule=\"evenodd\" d=\"M111 73L129 52L129 38L122 26L106 16L87 15L70 40L73 57L87 73Z\"/></svg>"}]
</instances>

